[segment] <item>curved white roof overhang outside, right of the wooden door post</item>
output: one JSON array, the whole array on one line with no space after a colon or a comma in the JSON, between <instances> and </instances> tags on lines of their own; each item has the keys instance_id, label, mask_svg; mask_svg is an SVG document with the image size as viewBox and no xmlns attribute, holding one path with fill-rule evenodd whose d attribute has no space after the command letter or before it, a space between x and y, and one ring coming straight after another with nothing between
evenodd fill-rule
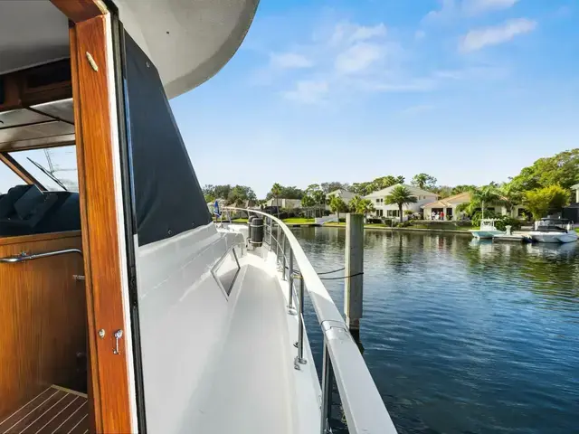
<instances>
[{"instance_id":1,"label":"curved white roof overhang outside, right of the wooden door post","mask_svg":"<svg viewBox=\"0 0 579 434\"><path fill-rule=\"evenodd\" d=\"M259 0L113 0L169 99L209 80L241 45Z\"/></svg>"}]
</instances>

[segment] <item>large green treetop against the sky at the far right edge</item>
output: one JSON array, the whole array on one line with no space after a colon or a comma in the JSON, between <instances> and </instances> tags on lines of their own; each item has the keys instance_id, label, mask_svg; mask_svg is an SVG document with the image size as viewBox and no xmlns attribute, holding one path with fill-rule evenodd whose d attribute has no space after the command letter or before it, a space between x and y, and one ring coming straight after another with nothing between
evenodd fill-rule
<instances>
[{"instance_id":1,"label":"large green treetop against the sky at the far right edge","mask_svg":"<svg viewBox=\"0 0 579 434\"><path fill-rule=\"evenodd\" d=\"M536 190L549 185L568 189L579 183L579 148L539 158L512 179L519 191Z\"/></svg>"}]
</instances>

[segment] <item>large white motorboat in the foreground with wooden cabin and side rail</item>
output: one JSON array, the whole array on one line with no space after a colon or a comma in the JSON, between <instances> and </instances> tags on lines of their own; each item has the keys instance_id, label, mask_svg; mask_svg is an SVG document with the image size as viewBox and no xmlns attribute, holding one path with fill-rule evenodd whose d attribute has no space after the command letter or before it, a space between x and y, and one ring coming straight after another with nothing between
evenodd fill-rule
<instances>
[{"instance_id":1,"label":"large white motorboat in the foreground with wooden cabin and side rail","mask_svg":"<svg viewBox=\"0 0 579 434\"><path fill-rule=\"evenodd\" d=\"M333 384L396 432L292 232L217 228L176 127L257 3L0 2L0 433L327 434Z\"/></svg>"}]
</instances>

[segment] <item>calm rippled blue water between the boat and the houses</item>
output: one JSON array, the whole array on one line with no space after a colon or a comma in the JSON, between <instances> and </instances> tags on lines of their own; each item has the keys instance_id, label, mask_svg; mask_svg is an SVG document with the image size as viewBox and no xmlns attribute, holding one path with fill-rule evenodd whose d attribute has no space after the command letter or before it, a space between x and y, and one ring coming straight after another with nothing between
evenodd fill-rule
<instances>
[{"instance_id":1,"label":"calm rippled blue water between the boat and the houses","mask_svg":"<svg viewBox=\"0 0 579 434\"><path fill-rule=\"evenodd\" d=\"M344 230L295 233L318 271L343 267ZM399 432L579 432L579 246L365 231L364 283L364 356Z\"/></svg>"}]
</instances>

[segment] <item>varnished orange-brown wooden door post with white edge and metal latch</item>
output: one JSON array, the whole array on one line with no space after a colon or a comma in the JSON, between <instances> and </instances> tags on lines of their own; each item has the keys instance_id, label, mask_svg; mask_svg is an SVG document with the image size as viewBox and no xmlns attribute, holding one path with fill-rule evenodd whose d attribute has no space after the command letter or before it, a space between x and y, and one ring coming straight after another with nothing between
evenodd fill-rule
<instances>
[{"instance_id":1,"label":"varnished orange-brown wooden door post with white edge and metal latch","mask_svg":"<svg viewBox=\"0 0 579 434\"><path fill-rule=\"evenodd\" d=\"M136 432L110 15L70 32L94 429ZM123 337L113 354L117 330Z\"/></svg>"}]
</instances>

